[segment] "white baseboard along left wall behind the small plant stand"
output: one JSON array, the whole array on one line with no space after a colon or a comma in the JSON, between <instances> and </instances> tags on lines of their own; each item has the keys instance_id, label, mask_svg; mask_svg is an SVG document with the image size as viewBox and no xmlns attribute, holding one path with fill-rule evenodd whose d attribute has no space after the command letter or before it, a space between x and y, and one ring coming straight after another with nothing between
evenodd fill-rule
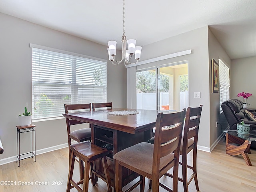
<instances>
[{"instance_id":1,"label":"white baseboard along left wall behind the small plant stand","mask_svg":"<svg viewBox=\"0 0 256 192\"><path fill-rule=\"evenodd\" d=\"M76 141L72 142L72 144L74 144L74 143L76 143ZM60 144L60 145L56 145L56 146L36 150L36 155L40 155L40 154L43 154L43 153L47 153L47 152L51 152L51 151L54 151L54 150L62 149L62 148L65 148L65 147L68 147L68 143L64 143L64 144ZM26 158L26 157L31 157L31 153L23 155L21 158ZM16 162L16 155L12 156L12 157L7 157L7 158L4 158L4 159L0 159L0 165L7 164L7 163L10 163L10 162L14 162L14 161Z\"/></svg>"}]
</instances>

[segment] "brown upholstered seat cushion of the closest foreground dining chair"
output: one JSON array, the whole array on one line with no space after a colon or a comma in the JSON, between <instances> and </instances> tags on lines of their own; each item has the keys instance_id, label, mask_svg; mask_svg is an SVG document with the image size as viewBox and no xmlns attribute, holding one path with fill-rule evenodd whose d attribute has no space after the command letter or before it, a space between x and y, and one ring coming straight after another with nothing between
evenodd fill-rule
<instances>
[{"instance_id":1,"label":"brown upholstered seat cushion of the closest foreground dining chair","mask_svg":"<svg viewBox=\"0 0 256 192\"><path fill-rule=\"evenodd\" d=\"M152 175L154 145L147 142L138 143L114 155L114 159ZM160 170L174 159L174 154L160 158Z\"/></svg>"}]
</instances>

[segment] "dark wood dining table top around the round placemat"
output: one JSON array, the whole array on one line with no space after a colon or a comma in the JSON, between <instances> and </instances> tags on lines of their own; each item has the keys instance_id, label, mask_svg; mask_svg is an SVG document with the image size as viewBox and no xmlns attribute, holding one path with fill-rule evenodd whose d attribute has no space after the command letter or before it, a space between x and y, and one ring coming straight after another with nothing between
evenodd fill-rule
<instances>
[{"instance_id":1,"label":"dark wood dining table top around the round placemat","mask_svg":"<svg viewBox=\"0 0 256 192\"><path fill-rule=\"evenodd\" d=\"M135 115L108 114L108 112L111 111L122 110L135 110L139 113ZM114 108L108 110L64 113L63 116L65 118L70 118L81 122L87 122L93 125L104 126L107 128L135 134L136 132L145 131L154 127L158 112L164 111Z\"/></svg>"}]
</instances>

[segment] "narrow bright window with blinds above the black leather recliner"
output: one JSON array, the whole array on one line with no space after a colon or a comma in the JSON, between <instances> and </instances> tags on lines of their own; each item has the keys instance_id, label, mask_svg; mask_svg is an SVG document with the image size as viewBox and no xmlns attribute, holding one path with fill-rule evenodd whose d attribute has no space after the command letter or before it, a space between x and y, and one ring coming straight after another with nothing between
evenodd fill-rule
<instances>
[{"instance_id":1,"label":"narrow bright window with blinds above the black leather recliner","mask_svg":"<svg viewBox=\"0 0 256 192\"><path fill-rule=\"evenodd\" d=\"M229 68L219 59L220 64L220 113L222 113L221 104L222 102L229 99Z\"/></svg>"}]
</instances>

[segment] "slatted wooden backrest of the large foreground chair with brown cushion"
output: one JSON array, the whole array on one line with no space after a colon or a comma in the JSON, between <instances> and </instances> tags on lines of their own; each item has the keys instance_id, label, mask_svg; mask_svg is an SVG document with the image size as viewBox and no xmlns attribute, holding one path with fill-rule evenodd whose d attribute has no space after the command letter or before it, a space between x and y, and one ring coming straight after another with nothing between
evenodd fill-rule
<instances>
[{"instance_id":1,"label":"slatted wooden backrest of the large foreground chair with brown cushion","mask_svg":"<svg viewBox=\"0 0 256 192\"><path fill-rule=\"evenodd\" d=\"M163 114L158 113L156 118L156 132L154 138L153 172L158 177L170 169L174 163L178 164L180 142L186 109L181 112ZM163 170L159 170L160 158L174 152L172 160ZM166 170L167 169L167 170Z\"/></svg>"}]
</instances>

